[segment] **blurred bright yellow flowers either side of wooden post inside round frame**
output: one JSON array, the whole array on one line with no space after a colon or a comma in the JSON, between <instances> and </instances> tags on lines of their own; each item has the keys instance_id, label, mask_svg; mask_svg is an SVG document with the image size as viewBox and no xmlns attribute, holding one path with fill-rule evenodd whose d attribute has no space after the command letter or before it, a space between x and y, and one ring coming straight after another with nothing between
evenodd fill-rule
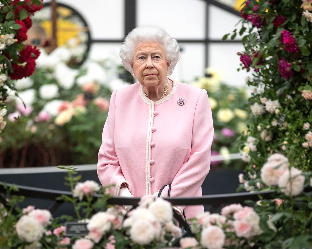
<instances>
[{"instance_id":1,"label":"blurred bright yellow flowers either side of wooden post inside round frame","mask_svg":"<svg viewBox=\"0 0 312 249\"><path fill-rule=\"evenodd\" d=\"M42 21L40 25L45 29L48 37L52 36L52 22L51 21ZM78 37L80 28L77 23L71 22L69 20L63 20L58 18L56 21L57 32L57 46L62 46L67 43L71 38Z\"/></svg>"}]
</instances>

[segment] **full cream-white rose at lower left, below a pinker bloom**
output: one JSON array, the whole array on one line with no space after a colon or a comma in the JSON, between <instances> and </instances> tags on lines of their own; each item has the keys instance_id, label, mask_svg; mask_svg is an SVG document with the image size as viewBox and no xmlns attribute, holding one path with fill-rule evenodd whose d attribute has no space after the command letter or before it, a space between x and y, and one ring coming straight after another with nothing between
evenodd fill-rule
<instances>
[{"instance_id":1,"label":"full cream-white rose at lower left, below a pinker bloom","mask_svg":"<svg viewBox=\"0 0 312 249\"><path fill-rule=\"evenodd\" d=\"M22 241L39 241L45 232L43 226L35 218L24 215L16 223L16 232Z\"/></svg>"}]
</instances>

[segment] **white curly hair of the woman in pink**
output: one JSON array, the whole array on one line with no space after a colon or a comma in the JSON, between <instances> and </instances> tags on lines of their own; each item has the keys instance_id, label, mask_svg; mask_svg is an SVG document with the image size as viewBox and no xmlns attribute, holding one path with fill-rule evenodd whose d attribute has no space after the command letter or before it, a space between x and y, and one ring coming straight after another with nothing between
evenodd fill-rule
<instances>
[{"instance_id":1,"label":"white curly hair of the woman in pink","mask_svg":"<svg viewBox=\"0 0 312 249\"><path fill-rule=\"evenodd\" d=\"M164 29L154 26L137 27L130 31L126 36L124 44L121 45L121 49L119 51L119 56L124 68L133 74L130 63L133 61L136 47L143 42L157 42L163 47L167 61L171 62L168 68L168 74L172 74L173 69L180 59L178 42L168 35Z\"/></svg>"}]
</instances>

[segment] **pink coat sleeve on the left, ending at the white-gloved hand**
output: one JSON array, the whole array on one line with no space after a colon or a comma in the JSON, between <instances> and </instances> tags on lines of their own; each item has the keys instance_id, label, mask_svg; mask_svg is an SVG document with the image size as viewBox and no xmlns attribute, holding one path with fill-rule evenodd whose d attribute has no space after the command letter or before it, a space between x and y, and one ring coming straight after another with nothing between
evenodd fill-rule
<instances>
[{"instance_id":1,"label":"pink coat sleeve on the left, ending at the white-gloved hand","mask_svg":"<svg viewBox=\"0 0 312 249\"><path fill-rule=\"evenodd\" d=\"M124 183L129 191L131 186L124 178L119 161L115 152L114 130L115 130L115 90L110 97L110 108L103 128L102 145L98 154L97 173L103 186L115 184L112 193L119 195L120 186Z\"/></svg>"}]
</instances>

